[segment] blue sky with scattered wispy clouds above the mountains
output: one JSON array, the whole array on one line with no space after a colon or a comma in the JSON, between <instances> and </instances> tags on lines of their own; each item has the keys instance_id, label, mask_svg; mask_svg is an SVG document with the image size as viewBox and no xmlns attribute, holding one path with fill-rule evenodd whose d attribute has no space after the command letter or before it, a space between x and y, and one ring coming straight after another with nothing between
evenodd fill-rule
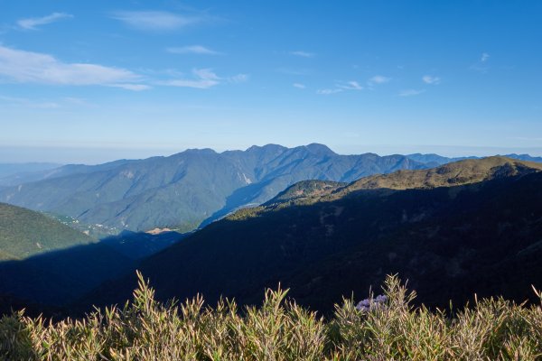
<instances>
[{"instance_id":1,"label":"blue sky with scattered wispy clouds above the mountains","mask_svg":"<svg viewBox=\"0 0 542 361\"><path fill-rule=\"evenodd\" d=\"M539 1L0 0L0 162L542 155Z\"/></svg>"}]
</instances>

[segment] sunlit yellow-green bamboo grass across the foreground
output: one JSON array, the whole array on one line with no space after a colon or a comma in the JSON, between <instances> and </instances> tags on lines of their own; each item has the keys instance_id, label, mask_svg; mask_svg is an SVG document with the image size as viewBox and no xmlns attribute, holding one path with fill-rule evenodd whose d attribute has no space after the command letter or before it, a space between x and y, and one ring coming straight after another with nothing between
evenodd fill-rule
<instances>
[{"instance_id":1,"label":"sunlit yellow-green bamboo grass across the foreground","mask_svg":"<svg viewBox=\"0 0 542 361\"><path fill-rule=\"evenodd\" d=\"M261 307L201 297L162 304L140 276L134 301L85 319L51 323L16 313L0 319L0 358L8 360L535 360L542 356L542 308L478 301L448 317L411 305L397 277L385 307L331 319L268 290Z\"/></svg>"}]
</instances>

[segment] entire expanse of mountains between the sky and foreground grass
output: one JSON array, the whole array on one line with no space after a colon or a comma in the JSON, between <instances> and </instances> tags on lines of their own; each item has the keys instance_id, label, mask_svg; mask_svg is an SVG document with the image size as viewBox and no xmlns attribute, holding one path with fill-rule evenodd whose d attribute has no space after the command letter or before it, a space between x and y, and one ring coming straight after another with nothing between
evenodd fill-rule
<instances>
[{"instance_id":1,"label":"entire expanse of mountains between the sky and foreground grass","mask_svg":"<svg viewBox=\"0 0 542 361\"><path fill-rule=\"evenodd\" d=\"M164 300L256 303L281 282L326 310L395 272L428 304L463 303L474 282L520 300L542 274L542 164L524 159L542 161L269 144L12 173L0 197L41 212L0 204L0 299L86 311L126 300L140 269Z\"/></svg>"}]
</instances>

